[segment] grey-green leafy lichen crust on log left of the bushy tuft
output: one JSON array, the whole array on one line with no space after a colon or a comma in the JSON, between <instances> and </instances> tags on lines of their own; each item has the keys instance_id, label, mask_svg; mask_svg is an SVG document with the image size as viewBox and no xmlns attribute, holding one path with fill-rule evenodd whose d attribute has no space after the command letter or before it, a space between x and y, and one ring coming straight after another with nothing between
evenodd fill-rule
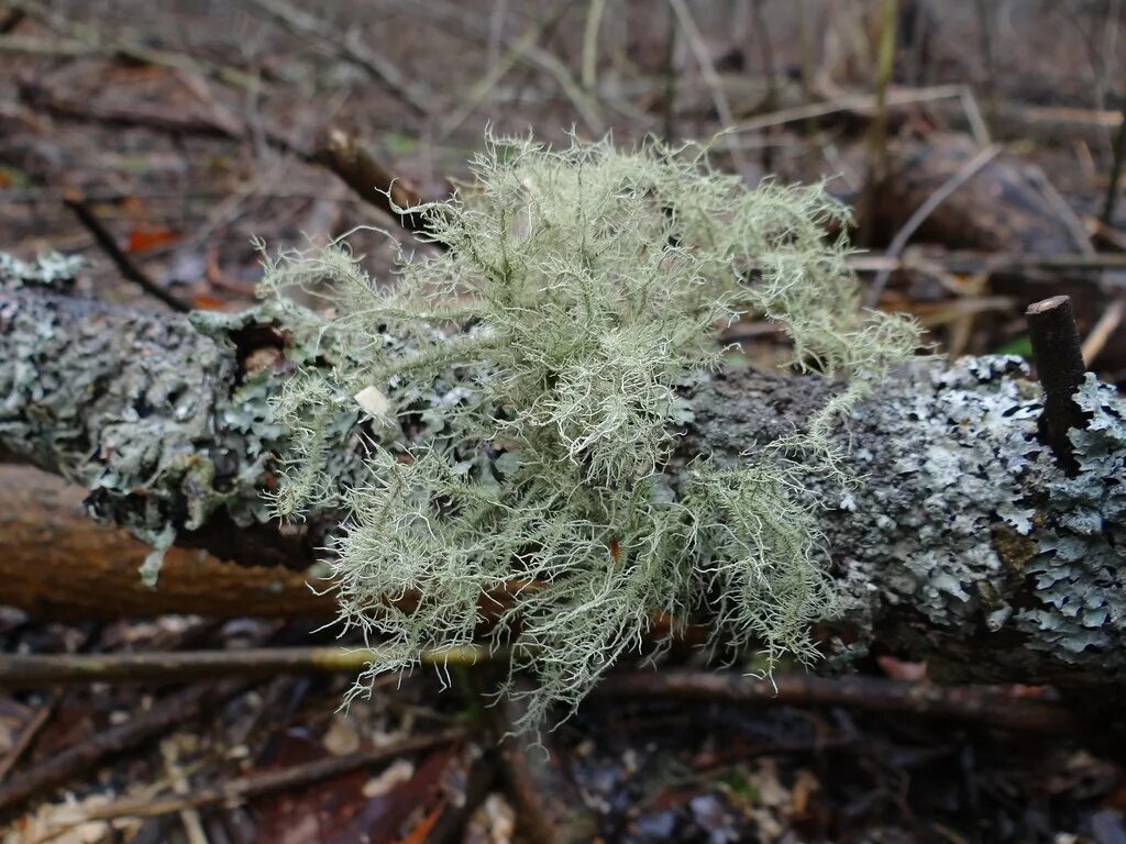
<instances>
[{"instance_id":1,"label":"grey-green leafy lichen crust on log left of the bushy tuft","mask_svg":"<svg viewBox=\"0 0 1126 844\"><path fill-rule=\"evenodd\" d=\"M248 367L236 340L276 325L271 305L182 320L23 289L48 279L65 286L63 270L75 269L65 260L0 268L0 336L11 359L0 368L3 448L82 484L91 515L152 544L148 580L172 544L222 554L224 542L206 536L216 530L231 542L257 542L262 563L306 563L309 548L295 544L323 537L279 538L267 524L262 491L289 436L269 403L283 370L324 350L291 340L284 353ZM357 416L349 408L333 422L338 445ZM358 465L340 448L327 459L341 478Z\"/></svg>"}]
</instances>

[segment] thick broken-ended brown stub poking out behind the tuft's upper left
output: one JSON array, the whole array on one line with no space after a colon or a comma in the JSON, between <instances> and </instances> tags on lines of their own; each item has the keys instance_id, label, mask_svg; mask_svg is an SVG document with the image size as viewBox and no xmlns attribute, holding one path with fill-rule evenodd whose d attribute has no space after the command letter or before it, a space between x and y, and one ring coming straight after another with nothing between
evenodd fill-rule
<instances>
[{"instance_id":1,"label":"thick broken-ended brown stub poking out behind the tuft's upper left","mask_svg":"<svg viewBox=\"0 0 1126 844\"><path fill-rule=\"evenodd\" d=\"M355 135L341 128L327 129L313 151L313 161L334 172L364 201L393 217L408 232L428 233L425 215L396 210L418 206L422 201L419 195L388 173Z\"/></svg>"}]
</instances>

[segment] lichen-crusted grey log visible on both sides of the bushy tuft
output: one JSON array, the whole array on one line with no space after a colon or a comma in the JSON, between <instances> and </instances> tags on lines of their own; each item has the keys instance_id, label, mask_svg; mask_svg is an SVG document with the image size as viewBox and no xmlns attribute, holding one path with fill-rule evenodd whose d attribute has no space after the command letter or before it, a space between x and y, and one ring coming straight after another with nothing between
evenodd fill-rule
<instances>
[{"instance_id":1,"label":"lichen-crusted grey log visible on both sides of the bushy tuft","mask_svg":"<svg viewBox=\"0 0 1126 844\"><path fill-rule=\"evenodd\" d=\"M158 316L28 288L0 290L0 452L83 484L87 506L150 541L242 564L306 566L337 524L298 527L262 501L286 432L267 401L309 350L269 309ZM331 361L321 360L329 366ZM950 680L1121 685L1124 404L1089 378L1067 477L1037 441L1019 360L908 367L839 427L855 488L808 478L825 566L844 602L819 635L834 658L929 658ZM721 372L690 396L681 459L738 460L834 389ZM358 438L330 443L356 476Z\"/></svg>"}]
</instances>

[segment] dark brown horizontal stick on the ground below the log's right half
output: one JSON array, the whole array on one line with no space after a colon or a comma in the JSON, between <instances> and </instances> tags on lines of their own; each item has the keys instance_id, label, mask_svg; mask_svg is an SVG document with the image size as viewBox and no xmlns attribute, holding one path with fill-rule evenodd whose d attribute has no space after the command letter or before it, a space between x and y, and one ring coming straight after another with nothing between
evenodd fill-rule
<instances>
[{"instance_id":1,"label":"dark brown horizontal stick on the ground below the log's right half","mask_svg":"<svg viewBox=\"0 0 1126 844\"><path fill-rule=\"evenodd\" d=\"M1029 699L1020 686L940 686L867 676L776 674L758 677L714 671L615 673L595 686L593 694L600 698L847 706L877 712L956 718L1037 733L1062 733L1081 726L1064 707Z\"/></svg>"}]
</instances>

